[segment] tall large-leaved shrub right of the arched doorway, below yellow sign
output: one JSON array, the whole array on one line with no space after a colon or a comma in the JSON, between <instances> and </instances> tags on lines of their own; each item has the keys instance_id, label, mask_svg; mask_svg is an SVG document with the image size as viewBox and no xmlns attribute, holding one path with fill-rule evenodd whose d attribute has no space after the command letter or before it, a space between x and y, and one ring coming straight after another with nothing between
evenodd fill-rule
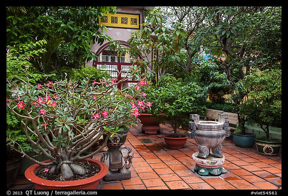
<instances>
[{"instance_id":1,"label":"tall large-leaved shrub right of the arched doorway, below yellow sign","mask_svg":"<svg viewBox=\"0 0 288 196\"><path fill-rule=\"evenodd\" d=\"M159 10L152 10L147 16L148 22L142 28L130 34L127 40L131 46L130 53L140 57L140 66L143 70L152 70L151 79L155 84L155 77L165 72L179 68L182 59L179 57L183 48L186 31L180 24L173 28L164 25ZM151 59L147 54L152 54Z\"/></svg>"}]
</instances>

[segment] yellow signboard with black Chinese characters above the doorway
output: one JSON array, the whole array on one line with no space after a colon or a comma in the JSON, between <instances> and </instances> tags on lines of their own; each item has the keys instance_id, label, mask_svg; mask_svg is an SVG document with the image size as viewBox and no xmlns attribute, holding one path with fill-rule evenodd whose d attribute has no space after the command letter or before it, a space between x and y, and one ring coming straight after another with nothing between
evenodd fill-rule
<instances>
[{"instance_id":1,"label":"yellow signboard with black Chinese characters above the doorway","mask_svg":"<svg viewBox=\"0 0 288 196\"><path fill-rule=\"evenodd\" d=\"M99 24L117 28L140 28L140 14L134 13L108 13L99 18Z\"/></svg>"}]
</instances>

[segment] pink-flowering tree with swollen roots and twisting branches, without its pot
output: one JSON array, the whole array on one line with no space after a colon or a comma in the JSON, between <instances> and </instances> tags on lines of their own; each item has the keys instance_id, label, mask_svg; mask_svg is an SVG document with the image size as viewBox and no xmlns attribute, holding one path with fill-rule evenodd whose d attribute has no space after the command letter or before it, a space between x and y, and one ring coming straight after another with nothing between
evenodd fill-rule
<instances>
[{"instance_id":1,"label":"pink-flowering tree with swollen roots and twisting branches, without its pot","mask_svg":"<svg viewBox=\"0 0 288 196\"><path fill-rule=\"evenodd\" d=\"M130 78L138 83L117 89L117 84ZM143 96L141 78L136 65L119 81L87 79L48 81L33 85L27 79L13 81L6 78L6 106L21 118L27 140L50 161L42 163L29 157L17 142L14 150L36 164L45 172L61 173L64 179L85 170L77 161L92 157L106 146L104 143L94 152L83 155L102 134L117 134L119 127L136 124L139 113L150 103L137 100ZM36 138L36 140L35 140Z\"/></svg>"}]
</instances>

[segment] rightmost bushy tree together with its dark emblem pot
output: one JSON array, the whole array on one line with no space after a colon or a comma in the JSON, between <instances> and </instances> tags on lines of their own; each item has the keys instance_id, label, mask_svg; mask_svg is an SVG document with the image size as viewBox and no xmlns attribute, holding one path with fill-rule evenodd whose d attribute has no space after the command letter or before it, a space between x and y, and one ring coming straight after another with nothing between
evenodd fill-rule
<instances>
[{"instance_id":1,"label":"rightmost bushy tree together with its dark emblem pot","mask_svg":"<svg viewBox=\"0 0 288 196\"><path fill-rule=\"evenodd\" d=\"M256 123L265 133L258 136L255 144L258 152L276 156L281 140L270 137L270 126L281 126L281 70L263 70L252 73L245 79L247 97L244 112L248 123Z\"/></svg>"}]
</instances>

